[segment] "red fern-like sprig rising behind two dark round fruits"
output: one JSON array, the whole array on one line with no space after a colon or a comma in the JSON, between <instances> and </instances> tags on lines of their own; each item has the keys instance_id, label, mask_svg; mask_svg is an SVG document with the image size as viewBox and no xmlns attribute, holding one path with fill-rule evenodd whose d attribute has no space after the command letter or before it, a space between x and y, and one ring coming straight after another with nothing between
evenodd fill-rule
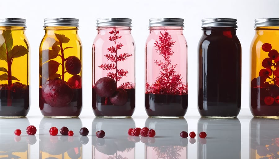
<instances>
[{"instance_id":1,"label":"red fern-like sprig rising behind two dark round fruits","mask_svg":"<svg viewBox=\"0 0 279 159\"><path fill-rule=\"evenodd\" d=\"M122 77L126 77L126 75L129 73L128 71L124 70L124 69L118 69L117 68L117 63L118 62L123 62L125 61L127 58L131 57L132 54L128 54L128 53L123 53L123 54L117 54L117 51L119 49L121 49L121 47L123 46L122 42L118 42L117 43L117 39L120 39L122 36L119 36L117 34L119 34L119 31L116 30L116 28L113 28L112 31L109 32L110 34L112 34L108 40L113 41L114 42L114 46L110 46L108 47L108 52L110 54L106 54L104 55L108 61L113 62L113 63L104 63L101 64L99 67L103 70L106 71L112 71L112 72L108 72L107 76L114 79L116 81L119 81L120 79L122 79ZM124 84L122 84L120 86L121 88L134 88L134 84L131 82L126 82Z\"/></svg>"}]
</instances>

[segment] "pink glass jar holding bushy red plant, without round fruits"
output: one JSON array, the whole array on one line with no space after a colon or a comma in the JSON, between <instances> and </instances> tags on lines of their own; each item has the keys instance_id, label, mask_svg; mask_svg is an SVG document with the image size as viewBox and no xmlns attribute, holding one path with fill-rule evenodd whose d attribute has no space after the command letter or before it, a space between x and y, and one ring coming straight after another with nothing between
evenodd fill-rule
<instances>
[{"instance_id":1,"label":"pink glass jar holding bushy red plant, without round fruits","mask_svg":"<svg viewBox=\"0 0 279 159\"><path fill-rule=\"evenodd\" d=\"M188 108L184 19L149 19L145 45L145 110L154 118L183 117Z\"/></svg>"}]
</instances>

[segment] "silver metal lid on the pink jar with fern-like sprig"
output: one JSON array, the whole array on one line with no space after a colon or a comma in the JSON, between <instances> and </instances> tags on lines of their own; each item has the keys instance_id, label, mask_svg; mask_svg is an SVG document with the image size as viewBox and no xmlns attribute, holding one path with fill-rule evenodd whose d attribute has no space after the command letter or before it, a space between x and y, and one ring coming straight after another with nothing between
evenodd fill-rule
<instances>
[{"instance_id":1,"label":"silver metal lid on the pink jar with fern-like sprig","mask_svg":"<svg viewBox=\"0 0 279 159\"><path fill-rule=\"evenodd\" d=\"M129 18L98 18L96 27L106 26L120 26L120 27L132 27L132 19Z\"/></svg>"}]
</instances>

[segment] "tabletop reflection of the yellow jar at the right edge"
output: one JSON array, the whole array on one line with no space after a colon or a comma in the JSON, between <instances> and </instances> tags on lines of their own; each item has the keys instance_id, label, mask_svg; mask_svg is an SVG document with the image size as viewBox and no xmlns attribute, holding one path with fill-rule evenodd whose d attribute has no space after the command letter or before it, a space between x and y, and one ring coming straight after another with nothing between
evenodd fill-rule
<instances>
[{"instance_id":1,"label":"tabletop reflection of the yellow jar at the right edge","mask_svg":"<svg viewBox=\"0 0 279 159\"><path fill-rule=\"evenodd\" d=\"M250 121L250 159L279 158L279 120L252 118Z\"/></svg>"}]
</instances>

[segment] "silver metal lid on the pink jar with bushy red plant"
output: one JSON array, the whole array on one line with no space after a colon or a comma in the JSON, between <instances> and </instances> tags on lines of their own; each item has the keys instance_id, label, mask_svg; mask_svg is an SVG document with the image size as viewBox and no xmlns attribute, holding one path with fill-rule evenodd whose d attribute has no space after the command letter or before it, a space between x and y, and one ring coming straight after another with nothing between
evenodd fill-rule
<instances>
[{"instance_id":1,"label":"silver metal lid on the pink jar with bushy red plant","mask_svg":"<svg viewBox=\"0 0 279 159\"><path fill-rule=\"evenodd\" d=\"M148 27L184 27L181 18L151 18Z\"/></svg>"}]
</instances>

